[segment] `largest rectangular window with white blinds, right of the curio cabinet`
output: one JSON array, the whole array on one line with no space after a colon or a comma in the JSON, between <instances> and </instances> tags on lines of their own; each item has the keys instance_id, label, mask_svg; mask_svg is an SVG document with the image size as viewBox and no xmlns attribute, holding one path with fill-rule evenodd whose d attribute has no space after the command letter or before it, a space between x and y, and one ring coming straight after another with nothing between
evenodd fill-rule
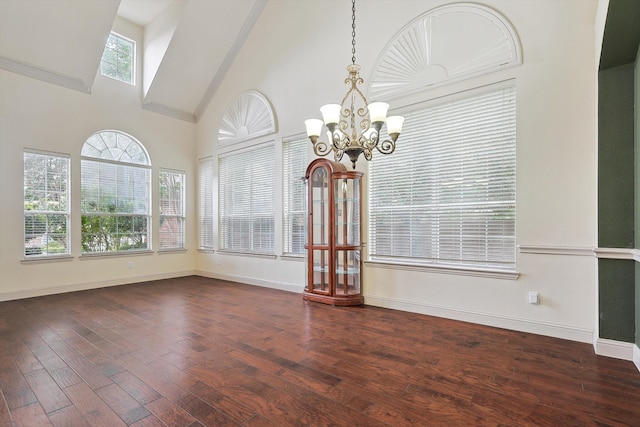
<instances>
[{"instance_id":1,"label":"largest rectangular window with white blinds, right of the curio cabinet","mask_svg":"<svg viewBox=\"0 0 640 427\"><path fill-rule=\"evenodd\" d=\"M405 114L393 155L369 169L369 257L515 269L512 86Z\"/></svg>"}]
</instances>

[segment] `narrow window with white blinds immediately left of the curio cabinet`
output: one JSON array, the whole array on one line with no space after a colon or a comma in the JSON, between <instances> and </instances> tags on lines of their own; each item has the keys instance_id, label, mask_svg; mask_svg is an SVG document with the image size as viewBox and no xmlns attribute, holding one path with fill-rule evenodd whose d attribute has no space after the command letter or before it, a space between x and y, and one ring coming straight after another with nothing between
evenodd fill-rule
<instances>
[{"instance_id":1,"label":"narrow window with white blinds immediately left of the curio cabinet","mask_svg":"<svg viewBox=\"0 0 640 427\"><path fill-rule=\"evenodd\" d=\"M306 191L309 139L286 138L282 144L284 253L304 255L306 239Z\"/></svg>"}]
</instances>

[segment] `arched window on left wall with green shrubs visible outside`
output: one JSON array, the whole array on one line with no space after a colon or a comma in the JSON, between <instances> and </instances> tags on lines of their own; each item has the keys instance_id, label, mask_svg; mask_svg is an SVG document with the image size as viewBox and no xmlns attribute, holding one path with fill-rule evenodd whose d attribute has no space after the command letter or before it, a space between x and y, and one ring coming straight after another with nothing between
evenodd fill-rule
<instances>
[{"instance_id":1,"label":"arched window on left wall with green shrubs visible outside","mask_svg":"<svg viewBox=\"0 0 640 427\"><path fill-rule=\"evenodd\" d=\"M100 131L82 146L82 252L150 249L151 162L144 146Z\"/></svg>"}]
</instances>

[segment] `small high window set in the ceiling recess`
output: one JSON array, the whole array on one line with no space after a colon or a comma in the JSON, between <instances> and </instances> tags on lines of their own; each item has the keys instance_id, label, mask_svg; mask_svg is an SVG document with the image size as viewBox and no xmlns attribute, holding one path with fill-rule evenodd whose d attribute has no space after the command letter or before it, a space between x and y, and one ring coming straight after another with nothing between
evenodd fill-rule
<instances>
[{"instance_id":1,"label":"small high window set in the ceiling recess","mask_svg":"<svg viewBox=\"0 0 640 427\"><path fill-rule=\"evenodd\" d=\"M121 82L134 84L135 42L111 33L100 60L100 74Z\"/></svg>"}]
</instances>

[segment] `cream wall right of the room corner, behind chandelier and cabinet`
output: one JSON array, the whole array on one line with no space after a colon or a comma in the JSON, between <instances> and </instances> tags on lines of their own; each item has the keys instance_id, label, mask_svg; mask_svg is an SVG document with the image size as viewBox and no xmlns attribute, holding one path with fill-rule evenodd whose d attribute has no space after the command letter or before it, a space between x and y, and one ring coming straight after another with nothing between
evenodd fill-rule
<instances>
[{"instance_id":1,"label":"cream wall right of the room corner, behind chandelier and cabinet","mask_svg":"<svg viewBox=\"0 0 640 427\"><path fill-rule=\"evenodd\" d=\"M357 62L365 80L381 49L439 0L360 1ZM523 64L496 76L517 90L518 280L366 264L365 303L591 342L596 259L596 0L490 0L522 44ZM318 107L342 99L351 62L346 1L271 1L198 124L197 156L216 155L220 118L241 92L263 93L277 116L276 141L304 131ZM469 87L426 92L429 99ZM394 105L401 107L399 105ZM393 106L392 106L393 107ZM402 136L398 143L402 149ZM358 168L366 172L366 165ZM278 203L279 204L279 203ZM281 216L281 212L278 213ZM366 233L366 229L365 229ZM543 252L543 253L529 253ZM553 254L551 254L551 253ZM301 291L304 264L199 253L198 271ZM540 305L527 302L538 291Z\"/></svg>"}]
</instances>

